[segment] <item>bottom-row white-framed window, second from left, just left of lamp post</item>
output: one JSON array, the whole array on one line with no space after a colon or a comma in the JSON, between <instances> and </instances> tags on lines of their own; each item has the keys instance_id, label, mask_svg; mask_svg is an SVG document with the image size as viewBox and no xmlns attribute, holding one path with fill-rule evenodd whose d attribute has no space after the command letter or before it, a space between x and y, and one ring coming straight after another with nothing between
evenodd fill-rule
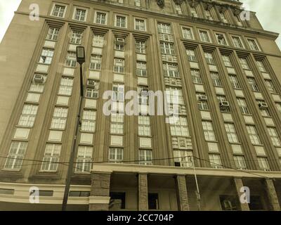
<instances>
[{"instance_id":1,"label":"bottom-row white-framed window, second from left, just left of lamp post","mask_svg":"<svg viewBox=\"0 0 281 225\"><path fill-rule=\"evenodd\" d=\"M42 172L56 172L60 160L60 144L47 143L44 158L41 165Z\"/></svg>"}]
</instances>

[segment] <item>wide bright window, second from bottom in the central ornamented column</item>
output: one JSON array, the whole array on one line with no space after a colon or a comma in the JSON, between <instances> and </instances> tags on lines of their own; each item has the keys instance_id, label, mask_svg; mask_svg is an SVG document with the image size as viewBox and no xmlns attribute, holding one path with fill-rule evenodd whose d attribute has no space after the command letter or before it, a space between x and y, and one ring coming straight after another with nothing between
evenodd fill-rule
<instances>
[{"instance_id":1,"label":"wide bright window, second from bottom in the central ornamented column","mask_svg":"<svg viewBox=\"0 0 281 225\"><path fill-rule=\"evenodd\" d=\"M169 117L171 136L190 136L185 117Z\"/></svg>"}]
</instances>

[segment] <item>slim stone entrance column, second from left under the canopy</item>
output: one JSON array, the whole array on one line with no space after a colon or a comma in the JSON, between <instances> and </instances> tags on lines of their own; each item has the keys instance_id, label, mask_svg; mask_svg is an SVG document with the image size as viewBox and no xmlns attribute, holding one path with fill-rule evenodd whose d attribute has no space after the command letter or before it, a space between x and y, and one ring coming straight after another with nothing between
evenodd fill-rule
<instances>
[{"instance_id":1,"label":"slim stone entrance column, second from left under the canopy","mask_svg":"<svg viewBox=\"0 0 281 225\"><path fill-rule=\"evenodd\" d=\"M148 174L138 174L138 210L148 211Z\"/></svg>"}]
</instances>

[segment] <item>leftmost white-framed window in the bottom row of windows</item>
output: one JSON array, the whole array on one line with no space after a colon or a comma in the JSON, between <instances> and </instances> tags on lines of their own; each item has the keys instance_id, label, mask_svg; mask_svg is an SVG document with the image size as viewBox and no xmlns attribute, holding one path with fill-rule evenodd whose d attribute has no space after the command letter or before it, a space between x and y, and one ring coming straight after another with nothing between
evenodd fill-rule
<instances>
[{"instance_id":1,"label":"leftmost white-framed window in the bottom row of windows","mask_svg":"<svg viewBox=\"0 0 281 225\"><path fill-rule=\"evenodd\" d=\"M27 150L27 142L12 141L8 156L6 158L4 169L20 170L23 158Z\"/></svg>"}]
</instances>

